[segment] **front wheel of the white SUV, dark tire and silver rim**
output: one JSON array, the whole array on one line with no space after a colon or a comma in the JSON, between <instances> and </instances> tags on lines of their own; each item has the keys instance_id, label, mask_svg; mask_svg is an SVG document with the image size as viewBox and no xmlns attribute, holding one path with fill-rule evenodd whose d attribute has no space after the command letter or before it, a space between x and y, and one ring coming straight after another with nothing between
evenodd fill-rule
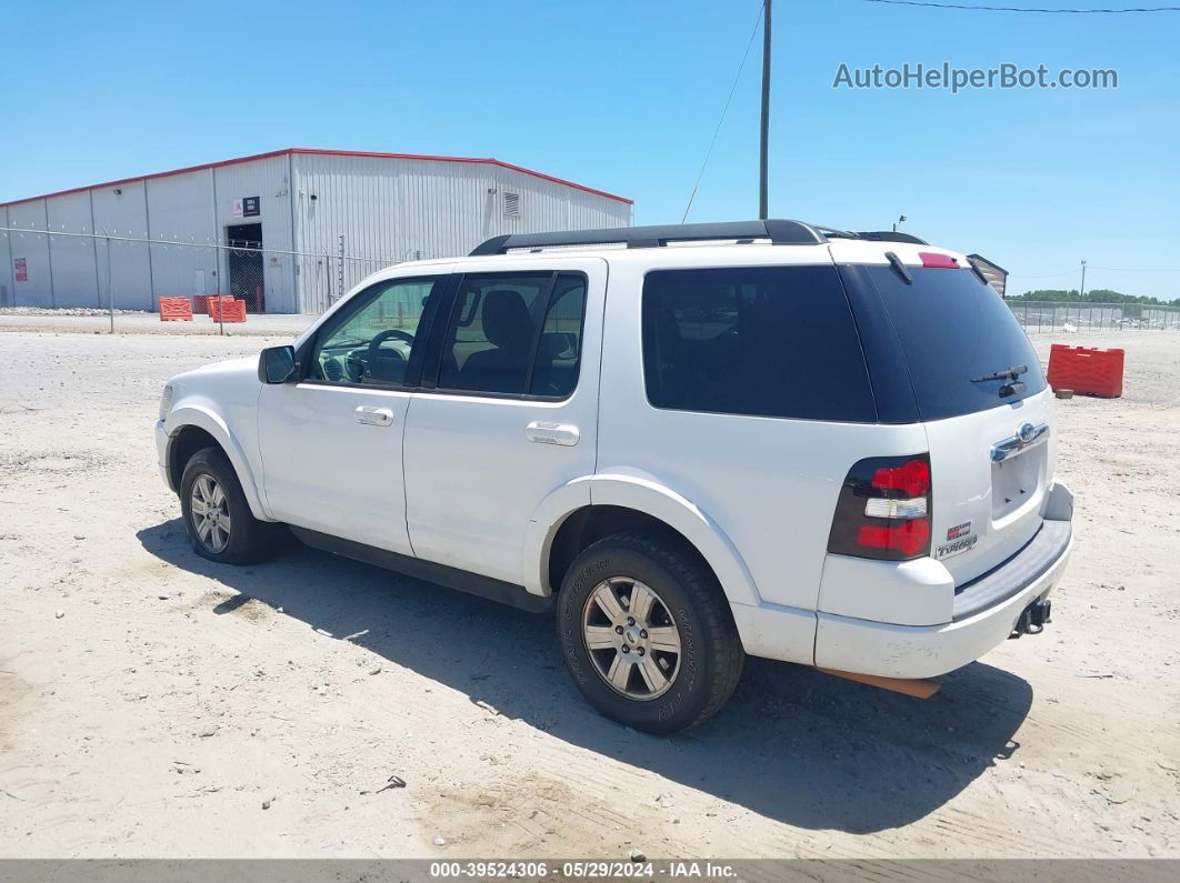
<instances>
[{"instance_id":1,"label":"front wheel of the white SUV, dark tire and silver rim","mask_svg":"<svg viewBox=\"0 0 1180 883\"><path fill-rule=\"evenodd\" d=\"M210 497L214 506L209 503ZM215 519L216 523L205 527L204 535L197 527L205 520L201 506L223 515ZM195 507L198 507L196 514ZM181 510L194 551L210 561L254 564L268 558L278 539L278 525L258 521L250 513L242 483L219 448L202 448L185 463L181 477Z\"/></svg>"}]
</instances>

